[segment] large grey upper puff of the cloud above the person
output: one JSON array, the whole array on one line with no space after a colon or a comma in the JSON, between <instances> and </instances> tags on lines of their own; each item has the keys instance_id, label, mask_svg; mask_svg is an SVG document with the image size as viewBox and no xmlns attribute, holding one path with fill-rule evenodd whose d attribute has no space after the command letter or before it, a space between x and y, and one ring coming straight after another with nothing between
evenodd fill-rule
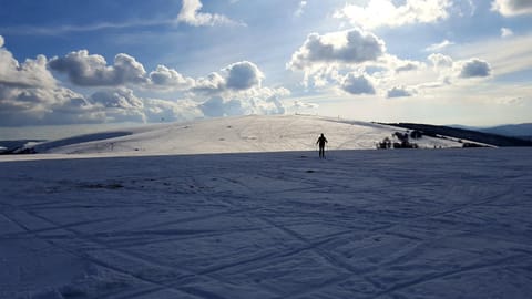
<instances>
[{"instance_id":1,"label":"large grey upper puff of the cloud above the person","mask_svg":"<svg viewBox=\"0 0 532 299\"><path fill-rule=\"evenodd\" d=\"M288 66L305 70L324 63L362 63L376 61L386 52L385 42L370 32L354 29L320 35L311 33Z\"/></svg>"}]
</instances>

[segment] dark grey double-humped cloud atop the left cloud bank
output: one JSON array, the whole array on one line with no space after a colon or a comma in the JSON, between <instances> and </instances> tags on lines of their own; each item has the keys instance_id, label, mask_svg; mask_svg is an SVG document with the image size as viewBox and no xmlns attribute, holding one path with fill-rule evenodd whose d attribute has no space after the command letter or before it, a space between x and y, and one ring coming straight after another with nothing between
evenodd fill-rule
<instances>
[{"instance_id":1,"label":"dark grey double-humped cloud atop the left cloud bank","mask_svg":"<svg viewBox=\"0 0 532 299\"><path fill-rule=\"evenodd\" d=\"M50 69L66 73L69 79L81 86L116 86L126 83L144 83L146 71L134 58L117 54L114 64L108 65L102 55L89 54L86 50L71 52L64 58L53 58Z\"/></svg>"}]
</instances>

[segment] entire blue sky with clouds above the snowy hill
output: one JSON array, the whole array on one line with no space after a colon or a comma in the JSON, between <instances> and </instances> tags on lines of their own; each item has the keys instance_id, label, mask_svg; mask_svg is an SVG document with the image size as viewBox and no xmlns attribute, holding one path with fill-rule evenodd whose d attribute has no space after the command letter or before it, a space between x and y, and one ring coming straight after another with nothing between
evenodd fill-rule
<instances>
[{"instance_id":1,"label":"entire blue sky with clouds above the snowy hill","mask_svg":"<svg viewBox=\"0 0 532 299\"><path fill-rule=\"evenodd\" d=\"M532 122L529 0L0 0L0 127Z\"/></svg>"}]
</instances>

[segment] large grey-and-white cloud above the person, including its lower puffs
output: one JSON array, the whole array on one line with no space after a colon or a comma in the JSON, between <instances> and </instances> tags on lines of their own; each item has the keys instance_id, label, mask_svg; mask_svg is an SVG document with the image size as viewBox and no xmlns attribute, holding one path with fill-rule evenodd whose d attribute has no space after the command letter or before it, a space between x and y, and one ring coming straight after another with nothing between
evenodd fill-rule
<instances>
[{"instance_id":1,"label":"large grey-and-white cloud above the person, including its lower puffs","mask_svg":"<svg viewBox=\"0 0 532 299\"><path fill-rule=\"evenodd\" d=\"M385 42L361 29L311 33L287 63L303 71L305 87L345 91L350 94L378 94L399 78L410 80L411 71L424 70L422 62L388 54ZM410 83L409 83L410 84Z\"/></svg>"}]
</instances>

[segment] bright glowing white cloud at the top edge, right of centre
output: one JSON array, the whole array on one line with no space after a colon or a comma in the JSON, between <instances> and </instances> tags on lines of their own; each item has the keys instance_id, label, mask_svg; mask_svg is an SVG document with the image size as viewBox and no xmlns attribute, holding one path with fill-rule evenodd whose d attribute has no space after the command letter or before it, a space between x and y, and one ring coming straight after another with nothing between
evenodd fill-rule
<instances>
[{"instance_id":1,"label":"bright glowing white cloud at the top edge, right of centre","mask_svg":"<svg viewBox=\"0 0 532 299\"><path fill-rule=\"evenodd\" d=\"M346 4L335 13L351 24L367 29L434 23L449 17L450 0L406 0L396 6L392 0L370 0L366 7Z\"/></svg>"}]
</instances>

